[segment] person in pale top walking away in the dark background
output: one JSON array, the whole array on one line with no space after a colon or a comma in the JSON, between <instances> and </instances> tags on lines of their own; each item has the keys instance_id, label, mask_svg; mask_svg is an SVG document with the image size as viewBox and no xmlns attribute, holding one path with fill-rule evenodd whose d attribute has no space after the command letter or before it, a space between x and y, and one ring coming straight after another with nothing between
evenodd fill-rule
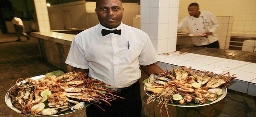
<instances>
[{"instance_id":1,"label":"person in pale top walking away in the dark background","mask_svg":"<svg viewBox=\"0 0 256 117\"><path fill-rule=\"evenodd\" d=\"M29 40L29 36L27 35L27 33L24 32L24 25L22 20L18 17L10 17L10 18L12 19L12 23L14 25L15 31L18 36L18 39L16 40L16 42L21 41L20 40L21 34L24 35L27 38L27 40Z\"/></svg>"}]
</instances>

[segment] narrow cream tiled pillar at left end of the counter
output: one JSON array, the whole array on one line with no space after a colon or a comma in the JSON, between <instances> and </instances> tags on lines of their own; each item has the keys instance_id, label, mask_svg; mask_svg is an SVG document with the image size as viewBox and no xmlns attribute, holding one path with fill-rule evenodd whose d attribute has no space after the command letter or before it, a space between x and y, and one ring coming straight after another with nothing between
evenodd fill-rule
<instances>
[{"instance_id":1,"label":"narrow cream tiled pillar at left end of the counter","mask_svg":"<svg viewBox=\"0 0 256 117\"><path fill-rule=\"evenodd\" d=\"M49 32L50 31L50 22L48 17L48 10L46 6L46 0L34 0L38 31L39 32Z\"/></svg>"}]
</instances>

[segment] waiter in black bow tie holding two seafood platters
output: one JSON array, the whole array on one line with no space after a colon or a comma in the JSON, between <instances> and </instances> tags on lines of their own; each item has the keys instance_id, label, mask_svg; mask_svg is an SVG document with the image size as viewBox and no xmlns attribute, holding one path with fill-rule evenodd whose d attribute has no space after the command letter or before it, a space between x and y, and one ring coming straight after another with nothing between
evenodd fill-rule
<instances>
[{"instance_id":1,"label":"waiter in black bow tie holding two seafood platters","mask_svg":"<svg viewBox=\"0 0 256 117\"><path fill-rule=\"evenodd\" d=\"M86 108L87 117L140 117L142 102L138 80L140 67L147 75L159 73L156 51L149 36L134 27L123 24L124 8L120 0L97 0L99 25L84 30L73 38L66 63L74 70L89 73L125 99Z\"/></svg>"}]
</instances>

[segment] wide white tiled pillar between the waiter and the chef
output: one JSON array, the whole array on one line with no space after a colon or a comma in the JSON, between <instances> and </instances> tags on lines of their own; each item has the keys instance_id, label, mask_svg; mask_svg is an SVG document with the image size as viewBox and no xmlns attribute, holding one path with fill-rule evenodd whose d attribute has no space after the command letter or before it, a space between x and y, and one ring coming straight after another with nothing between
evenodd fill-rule
<instances>
[{"instance_id":1,"label":"wide white tiled pillar between the waiter and the chef","mask_svg":"<svg viewBox=\"0 0 256 117\"><path fill-rule=\"evenodd\" d=\"M176 50L179 0L141 0L141 30L158 54Z\"/></svg>"}]
</instances>

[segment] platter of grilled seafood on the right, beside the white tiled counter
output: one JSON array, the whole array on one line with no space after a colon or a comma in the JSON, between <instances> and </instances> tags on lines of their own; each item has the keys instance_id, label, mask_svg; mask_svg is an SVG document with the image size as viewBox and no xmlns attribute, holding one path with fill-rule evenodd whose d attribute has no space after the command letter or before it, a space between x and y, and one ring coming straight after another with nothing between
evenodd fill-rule
<instances>
[{"instance_id":1,"label":"platter of grilled seafood on the right, beside the white tiled counter","mask_svg":"<svg viewBox=\"0 0 256 117\"><path fill-rule=\"evenodd\" d=\"M223 72L224 73L224 72ZM173 71L155 73L144 80L144 90L149 98L146 104L157 101L157 106L200 107L216 103L227 94L228 84L236 78L229 72L221 75L209 71L197 71L182 66Z\"/></svg>"}]
</instances>

